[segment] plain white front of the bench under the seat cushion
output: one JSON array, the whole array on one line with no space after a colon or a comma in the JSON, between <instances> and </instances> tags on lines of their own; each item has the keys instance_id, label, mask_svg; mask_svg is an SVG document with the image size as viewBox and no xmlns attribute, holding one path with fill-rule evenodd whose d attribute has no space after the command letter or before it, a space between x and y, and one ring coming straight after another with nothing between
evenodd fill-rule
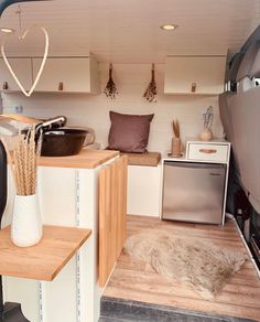
<instances>
[{"instance_id":1,"label":"plain white front of the bench under the seat cushion","mask_svg":"<svg viewBox=\"0 0 260 322\"><path fill-rule=\"evenodd\" d=\"M130 215L160 215L161 165L128 165L128 207Z\"/></svg>"}]
</instances>

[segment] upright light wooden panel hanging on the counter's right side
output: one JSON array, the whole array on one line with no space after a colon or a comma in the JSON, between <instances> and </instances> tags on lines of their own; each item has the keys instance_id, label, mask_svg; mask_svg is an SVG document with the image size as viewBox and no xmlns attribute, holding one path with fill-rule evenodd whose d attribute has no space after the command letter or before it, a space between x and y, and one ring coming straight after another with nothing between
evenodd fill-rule
<instances>
[{"instance_id":1,"label":"upright light wooden panel hanging on the counter's right side","mask_svg":"<svg viewBox=\"0 0 260 322\"><path fill-rule=\"evenodd\" d=\"M127 236L127 165L123 155L99 174L99 286L104 287Z\"/></svg>"}]
</instances>

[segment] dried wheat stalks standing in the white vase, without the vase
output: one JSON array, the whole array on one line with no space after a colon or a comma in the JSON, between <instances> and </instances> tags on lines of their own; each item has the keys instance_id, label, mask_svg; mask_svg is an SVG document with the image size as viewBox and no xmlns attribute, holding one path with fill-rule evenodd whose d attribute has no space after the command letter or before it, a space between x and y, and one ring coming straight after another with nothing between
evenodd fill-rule
<instances>
[{"instance_id":1,"label":"dried wheat stalks standing in the white vase, without the vase","mask_svg":"<svg viewBox=\"0 0 260 322\"><path fill-rule=\"evenodd\" d=\"M13 150L9 151L4 138L1 138L6 148L10 168L13 174L18 195L33 195L36 190L37 159L41 155L42 135L35 142L35 125L26 132L13 137Z\"/></svg>"}]
</instances>

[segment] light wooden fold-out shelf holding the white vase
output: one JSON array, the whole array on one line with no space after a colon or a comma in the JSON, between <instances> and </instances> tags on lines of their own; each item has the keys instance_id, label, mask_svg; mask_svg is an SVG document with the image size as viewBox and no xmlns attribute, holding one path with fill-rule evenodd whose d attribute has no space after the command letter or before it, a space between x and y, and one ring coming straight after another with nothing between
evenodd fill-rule
<instances>
[{"instance_id":1,"label":"light wooden fold-out shelf holding the white vase","mask_svg":"<svg viewBox=\"0 0 260 322\"><path fill-rule=\"evenodd\" d=\"M0 230L0 275L52 281L91 230L76 227L44 226L42 240L32 247L17 247L10 226Z\"/></svg>"}]
</instances>

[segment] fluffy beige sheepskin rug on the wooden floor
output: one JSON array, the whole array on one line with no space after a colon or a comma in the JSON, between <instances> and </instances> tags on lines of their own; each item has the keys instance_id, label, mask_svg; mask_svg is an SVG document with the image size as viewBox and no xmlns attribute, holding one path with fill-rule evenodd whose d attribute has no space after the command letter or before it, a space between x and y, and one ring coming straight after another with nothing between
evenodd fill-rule
<instances>
[{"instance_id":1,"label":"fluffy beige sheepskin rug on the wooden floor","mask_svg":"<svg viewBox=\"0 0 260 322\"><path fill-rule=\"evenodd\" d=\"M186 283L203 299L213 300L247 260L234 251L191 237L174 237L163 229L130 236L124 250L152 266L160 275Z\"/></svg>"}]
</instances>

